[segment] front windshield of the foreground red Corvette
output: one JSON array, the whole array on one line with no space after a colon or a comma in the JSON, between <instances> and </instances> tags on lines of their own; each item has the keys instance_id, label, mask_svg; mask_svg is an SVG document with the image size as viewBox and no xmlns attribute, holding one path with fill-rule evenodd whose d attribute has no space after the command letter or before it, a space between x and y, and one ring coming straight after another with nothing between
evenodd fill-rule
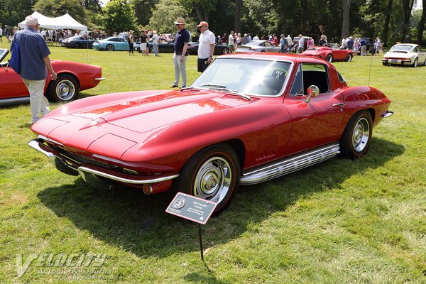
<instances>
[{"instance_id":1,"label":"front windshield of the foreground red Corvette","mask_svg":"<svg viewBox=\"0 0 426 284\"><path fill-rule=\"evenodd\" d=\"M278 96L287 82L290 62L217 58L191 85L200 89L229 89L246 95Z\"/></svg>"}]
</instances>

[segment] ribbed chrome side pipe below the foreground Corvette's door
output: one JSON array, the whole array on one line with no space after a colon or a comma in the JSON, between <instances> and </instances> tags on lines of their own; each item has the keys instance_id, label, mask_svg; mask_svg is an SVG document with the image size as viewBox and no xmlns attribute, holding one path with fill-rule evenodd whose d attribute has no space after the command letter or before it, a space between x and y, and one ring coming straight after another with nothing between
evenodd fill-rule
<instances>
[{"instance_id":1,"label":"ribbed chrome side pipe below the foreground Corvette's door","mask_svg":"<svg viewBox=\"0 0 426 284\"><path fill-rule=\"evenodd\" d=\"M340 153L339 148L339 143L334 143L332 145L316 148L312 151L304 152L300 155L281 160L278 163L266 165L263 168L244 173L239 178L239 184L256 185L257 183L265 182L266 180L272 180L273 178L278 178L282 175L293 173L296 170L307 168L310 165L315 165L316 163L320 163L323 160L333 158L335 155Z\"/></svg>"}]
</instances>

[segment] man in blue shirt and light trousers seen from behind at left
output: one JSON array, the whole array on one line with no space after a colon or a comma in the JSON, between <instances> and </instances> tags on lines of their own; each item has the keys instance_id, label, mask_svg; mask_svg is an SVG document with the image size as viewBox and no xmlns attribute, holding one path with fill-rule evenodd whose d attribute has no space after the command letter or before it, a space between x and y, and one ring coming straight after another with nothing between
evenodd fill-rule
<instances>
[{"instance_id":1,"label":"man in blue shirt and light trousers seen from behind at left","mask_svg":"<svg viewBox=\"0 0 426 284\"><path fill-rule=\"evenodd\" d=\"M50 111L48 99L45 98L44 87L48 70L52 80L57 75L50 64L50 50L43 36L38 32L38 18L26 17L26 28L13 36L13 41L19 45L21 56L21 76L30 93L31 123L38 121L39 115L45 116ZM48 70L46 70L46 66Z\"/></svg>"}]
</instances>

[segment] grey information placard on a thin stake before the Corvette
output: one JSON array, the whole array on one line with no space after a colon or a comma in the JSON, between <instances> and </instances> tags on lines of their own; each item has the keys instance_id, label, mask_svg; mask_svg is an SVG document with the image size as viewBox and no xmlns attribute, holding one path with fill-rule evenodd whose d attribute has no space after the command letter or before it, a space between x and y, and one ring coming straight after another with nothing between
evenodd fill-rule
<instances>
[{"instance_id":1,"label":"grey information placard on a thin stake before the Corvette","mask_svg":"<svg viewBox=\"0 0 426 284\"><path fill-rule=\"evenodd\" d=\"M204 225L212 215L216 205L215 202L178 192L165 212Z\"/></svg>"}]
</instances>

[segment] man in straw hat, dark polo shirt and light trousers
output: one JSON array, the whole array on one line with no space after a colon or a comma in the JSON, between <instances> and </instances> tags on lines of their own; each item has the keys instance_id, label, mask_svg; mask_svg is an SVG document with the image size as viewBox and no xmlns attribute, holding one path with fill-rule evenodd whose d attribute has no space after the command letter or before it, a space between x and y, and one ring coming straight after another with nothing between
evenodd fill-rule
<instances>
[{"instance_id":1,"label":"man in straw hat, dark polo shirt and light trousers","mask_svg":"<svg viewBox=\"0 0 426 284\"><path fill-rule=\"evenodd\" d=\"M182 75L182 88L186 87L186 60L188 43L190 42L190 33L185 28L185 19L178 18L175 21L178 33L175 36L175 53L173 54L173 63L175 64L175 82L172 87L178 87L179 77Z\"/></svg>"}]
</instances>

